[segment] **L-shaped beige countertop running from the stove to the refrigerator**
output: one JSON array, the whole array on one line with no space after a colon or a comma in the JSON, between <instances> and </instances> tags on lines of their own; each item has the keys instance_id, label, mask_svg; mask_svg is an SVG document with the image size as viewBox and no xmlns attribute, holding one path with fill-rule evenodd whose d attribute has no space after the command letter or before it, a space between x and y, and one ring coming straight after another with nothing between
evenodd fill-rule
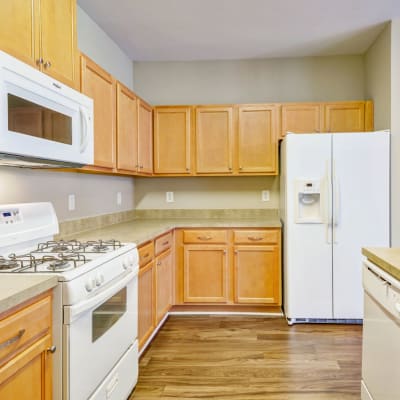
<instances>
[{"instance_id":1,"label":"L-shaped beige countertop running from the stove to the refrigerator","mask_svg":"<svg viewBox=\"0 0 400 400\"><path fill-rule=\"evenodd\" d=\"M133 242L137 245L174 228L280 228L278 217L265 219L135 219L128 222L109 225L64 239L95 240L116 239L121 242Z\"/></svg>"}]
</instances>

